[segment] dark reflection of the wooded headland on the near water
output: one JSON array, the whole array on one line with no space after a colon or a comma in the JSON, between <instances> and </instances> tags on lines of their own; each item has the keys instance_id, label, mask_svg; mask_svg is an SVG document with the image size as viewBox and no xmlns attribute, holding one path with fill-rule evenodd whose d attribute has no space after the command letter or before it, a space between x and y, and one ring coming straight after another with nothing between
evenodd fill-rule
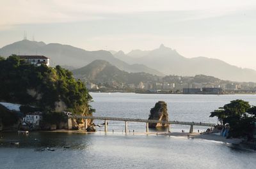
<instances>
[{"instance_id":1,"label":"dark reflection of the wooded headland on the near water","mask_svg":"<svg viewBox=\"0 0 256 169\"><path fill-rule=\"evenodd\" d=\"M88 133L31 132L29 135L2 133L0 147L44 149L88 149L91 143Z\"/></svg>"}]
</instances>

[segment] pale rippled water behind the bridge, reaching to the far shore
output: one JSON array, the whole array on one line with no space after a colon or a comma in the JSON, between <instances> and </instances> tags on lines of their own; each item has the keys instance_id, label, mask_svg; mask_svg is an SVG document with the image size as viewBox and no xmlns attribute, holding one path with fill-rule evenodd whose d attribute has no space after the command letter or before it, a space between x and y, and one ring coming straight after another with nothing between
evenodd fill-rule
<instances>
[{"instance_id":1,"label":"pale rippled water behind the bridge, reaching to the far shore","mask_svg":"<svg viewBox=\"0 0 256 169\"><path fill-rule=\"evenodd\" d=\"M128 117L135 119L148 119L150 108L157 101L165 101L168 105L170 121L188 122L218 122L217 118L210 118L210 112L234 99L244 99L251 105L256 105L255 95L184 95L184 94L134 94L134 93L91 93L96 108L94 115L104 117ZM102 124L103 121L96 121ZM124 131L124 122L110 121L109 131ZM132 132L145 131L145 124L141 122L129 122L129 130ZM189 131L189 126L171 126L171 131ZM194 127L195 131L205 131L205 127ZM104 128L98 128L104 130Z\"/></svg>"}]
</instances>

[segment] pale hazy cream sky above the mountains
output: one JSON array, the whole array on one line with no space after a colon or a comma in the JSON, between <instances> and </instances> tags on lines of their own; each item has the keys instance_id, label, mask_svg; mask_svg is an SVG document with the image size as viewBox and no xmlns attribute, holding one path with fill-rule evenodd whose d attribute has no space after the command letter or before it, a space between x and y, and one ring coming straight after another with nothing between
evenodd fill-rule
<instances>
[{"instance_id":1,"label":"pale hazy cream sky above the mountains","mask_svg":"<svg viewBox=\"0 0 256 169\"><path fill-rule=\"evenodd\" d=\"M256 1L0 1L0 47L22 40L86 50L151 50L212 57L256 70Z\"/></svg>"}]
</instances>

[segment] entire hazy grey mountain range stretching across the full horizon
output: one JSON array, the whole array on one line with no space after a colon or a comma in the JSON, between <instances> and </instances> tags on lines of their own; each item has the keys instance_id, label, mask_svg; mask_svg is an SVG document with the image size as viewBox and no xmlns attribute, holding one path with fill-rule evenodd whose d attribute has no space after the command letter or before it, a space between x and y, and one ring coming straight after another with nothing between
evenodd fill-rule
<instances>
[{"instance_id":1,"label":"entire hazy grey mountain range stretching across the full horizon","mask_svg":"<svg viewBox=\"0 0 256 169\"><path fill-rule=\"evenodd\" d=\"M209 75L237 82L256 82L256 71L232 66L219 59L208 57L187 58L172 48L161 45L154 50L88 51L59 43L22 40L0 48L0 55L45 55L51 58L52 66L60 64L66 68L81 68L97 59L108 61L127 72L145 72L152 75Z\"/></svg>"}]
</instances>

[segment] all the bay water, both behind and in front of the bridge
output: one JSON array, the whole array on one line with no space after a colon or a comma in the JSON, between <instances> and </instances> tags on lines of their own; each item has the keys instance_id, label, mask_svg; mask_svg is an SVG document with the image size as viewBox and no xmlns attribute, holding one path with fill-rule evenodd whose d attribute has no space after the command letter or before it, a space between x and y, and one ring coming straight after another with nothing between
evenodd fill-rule
<instances>
[{"instance_id":1,"label":"all the bay water, both behind and in front of the bridge","mask_svg":"<svg viewBox=\"0 0 256 169\"><path fill-rule=\"evenodd\" d=\"M217 122L209 112L232 99L256 105L254 95L92 93L95 115L147 119L156 101L168 103L170 120ZM102 121L99 121L99 123ZM97 133L0 133L0 168L256 168L256 152L220 142L156 135L125 135L123 122ZM172 126L179 130L185 126ZM110 130L109 129L109 130ZM129 129L145 131L144 124ZM19 145L11 145L19 142ZM47 147L54 151L47 151Z\"/></svg>"}]
</instances>

